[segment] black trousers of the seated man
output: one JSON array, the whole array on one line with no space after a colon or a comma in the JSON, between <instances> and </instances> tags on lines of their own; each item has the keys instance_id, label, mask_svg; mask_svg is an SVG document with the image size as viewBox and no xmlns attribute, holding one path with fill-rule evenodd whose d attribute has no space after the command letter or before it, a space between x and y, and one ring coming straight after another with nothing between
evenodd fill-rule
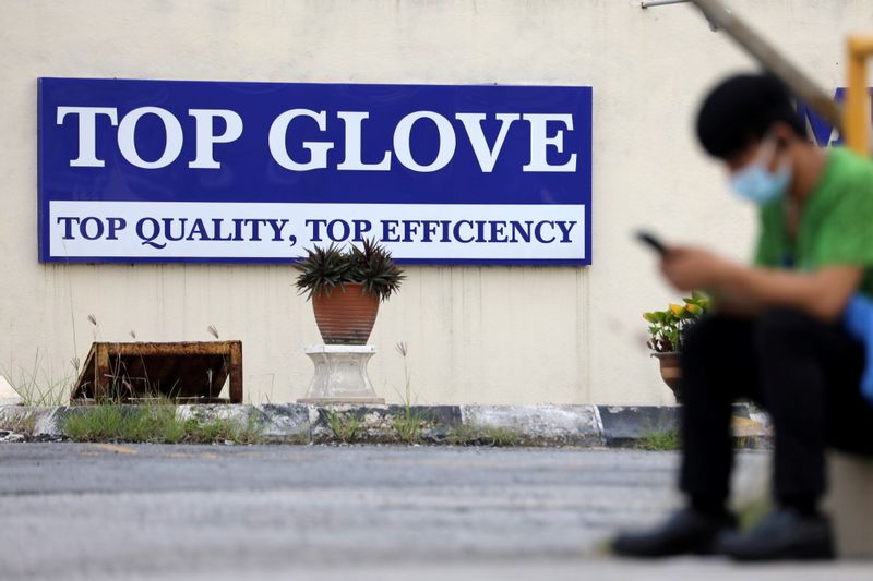
<instances>
[{"instance_id":1,"label":"black trousers of the seated man","mask_svg":"<svg viewBox=\"0 0 873 581\"><path fill-rule=\"evenodd\" d=\"M727 498L731 404L749 398L773 421L775 496L817 501L826 447L873 455L873 406L859 388L863 365L860 342L799 312L702 319L682 352L682 491L709 504Z\"/></svg>"}]
</instances>

